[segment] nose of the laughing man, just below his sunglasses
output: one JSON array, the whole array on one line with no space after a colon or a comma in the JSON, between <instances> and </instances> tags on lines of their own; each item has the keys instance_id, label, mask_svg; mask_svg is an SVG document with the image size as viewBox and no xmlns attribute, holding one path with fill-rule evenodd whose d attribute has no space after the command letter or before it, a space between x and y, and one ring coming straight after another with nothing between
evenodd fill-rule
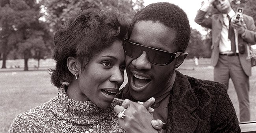
<instances>
[{"instance_id":1,"label":"nose of the laughing man, just below his sunglasses","mask_svg":"<svg viewBox=\"0 0 256 133\"><path fill-rule=\"evenodd\" d=\"M134 59L132 61L132 64L139 70L142 69L151 69L152 64L148 61L147 58L147 52L143 51L141 56L138 58Z\"/></svg>"}]
</instances>

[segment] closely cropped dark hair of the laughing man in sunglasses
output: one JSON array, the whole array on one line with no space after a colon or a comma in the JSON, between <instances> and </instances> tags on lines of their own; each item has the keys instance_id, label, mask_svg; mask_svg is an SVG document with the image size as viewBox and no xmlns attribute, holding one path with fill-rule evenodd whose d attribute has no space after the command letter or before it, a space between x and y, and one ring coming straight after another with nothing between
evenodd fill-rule
<instances>
[{"instance_id":1,"label":"closely cropped dark hair of the laughing man in sunglasses","mask_svg":"<svg viewBox=\"0 0 256 133\"><path fill-rule=\"evenodd\" d=\"M160 22L163 25L174 29L176 38L174 44L177 52L184 52L190 39L190 25L187 14L177 5L168 2L158 2L147 5L137 11L132 20L132 26L128 32L130 38L135 23L140 21Z\"/></svg>"}]
</instances>

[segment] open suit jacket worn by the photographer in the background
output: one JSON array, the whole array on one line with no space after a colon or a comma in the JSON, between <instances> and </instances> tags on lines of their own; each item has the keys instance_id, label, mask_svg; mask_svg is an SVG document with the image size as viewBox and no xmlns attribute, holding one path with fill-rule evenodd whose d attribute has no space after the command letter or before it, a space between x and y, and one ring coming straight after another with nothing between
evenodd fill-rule
<instances>
[{"instance_id":1,"label":"open suit jacket worn by the photographer in the background","mask_svg":"<svg viewBox=\"0 0 256 133\"><path fill-rule=\"evenodd\" d=\"M211 64L213 66L217 65L219 60L219 41L221 38L221 29L223 25L223 16L222 14L213 14L211 17L205 16L206 12L199 10L197 16L195 17L195 22L199 25L210 28L212 32L212 45L211 45ZM239 54L239 59L241 66L246 75L251 76L251 62L250 60L245 59L249 55L250 43L256 43L256 32L254 20L251 16L246 14L243 15L243 26L245 27L245 36L241 37L238 35L238 43L245 45L245 53Z\"/></svg>"}]
</instances>

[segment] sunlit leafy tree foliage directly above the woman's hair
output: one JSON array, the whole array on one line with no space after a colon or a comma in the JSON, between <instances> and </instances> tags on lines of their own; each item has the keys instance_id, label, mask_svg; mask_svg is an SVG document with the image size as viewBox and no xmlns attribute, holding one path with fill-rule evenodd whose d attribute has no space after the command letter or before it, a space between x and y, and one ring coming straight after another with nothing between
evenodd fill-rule
<instances>
[{"instance_id":1,"label":"sunlit leafy tree foliage directly above the woman's hair","mask_svg":"<svg viewBox=\"0 0 256 133\"><path fill-rule=\"evenodd\" d=\"M65 22L72 11L78 9L87 9L94 7L104 10L119 10L132 18L134 8L141 8L143 0L45 0L44 9L46 10L45 18L55 31L59 25Z\"/></svg>"}]
</instances>

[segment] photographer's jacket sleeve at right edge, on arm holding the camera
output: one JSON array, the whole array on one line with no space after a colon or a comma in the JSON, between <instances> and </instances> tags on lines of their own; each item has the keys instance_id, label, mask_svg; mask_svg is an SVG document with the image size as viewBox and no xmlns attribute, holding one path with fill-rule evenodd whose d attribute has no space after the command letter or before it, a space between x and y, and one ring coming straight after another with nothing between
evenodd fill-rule
<instances>
[{"instance_id":1,"label":"photographer's jacket sleeve at right edge, on arm holding the camera","mask_svg":"<svg viewBox=\"0 0 256 133\"><path fill-rule=\"evenodd\" d=\"M254 25L254 20L252 17L248 16L248 19L245 20L247 29L245 29L244 36L241 36L243 40L248 43L255 44L256 43L256 29Z\"/></svg>"}]
</instances>

